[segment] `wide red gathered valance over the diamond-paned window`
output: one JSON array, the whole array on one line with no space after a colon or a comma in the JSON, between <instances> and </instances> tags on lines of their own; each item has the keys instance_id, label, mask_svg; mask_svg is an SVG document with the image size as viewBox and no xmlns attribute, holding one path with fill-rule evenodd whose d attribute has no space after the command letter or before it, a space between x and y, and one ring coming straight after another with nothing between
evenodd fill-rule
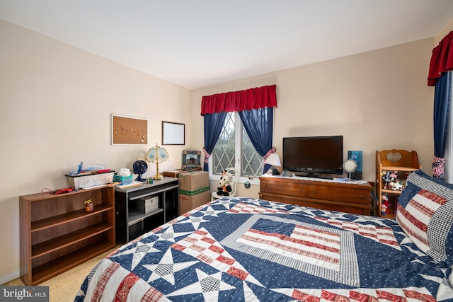
<instances>
[{"instance_id":1,"label":"wide red gathered valance over the diamond-paned window","mask_svg":"<svg viewBox=\"0 0 453 302\"><path fill-rule=\"evenodd\" d=\"M271 85L205 95L201 100L201 115L277 107L276 89L276 85Z\"/></svg>"}]
</instances>

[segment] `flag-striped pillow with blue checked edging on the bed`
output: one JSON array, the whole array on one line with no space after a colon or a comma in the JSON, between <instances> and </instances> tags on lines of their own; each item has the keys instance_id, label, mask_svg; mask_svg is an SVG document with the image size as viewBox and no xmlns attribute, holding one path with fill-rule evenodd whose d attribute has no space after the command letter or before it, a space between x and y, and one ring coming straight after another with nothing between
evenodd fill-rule
<instances>
[{"instance_id":1,"label":"flag-striped pillow with blue checked edging on the bed","mask_svg":"<svg viewBox=\"0 0 453 302\"><path fill-rule=\"evenodd\" d=\"M436 262L453 264L453 185L416 170L398 199L396 221Z\"/></svg>"}]
</instances>

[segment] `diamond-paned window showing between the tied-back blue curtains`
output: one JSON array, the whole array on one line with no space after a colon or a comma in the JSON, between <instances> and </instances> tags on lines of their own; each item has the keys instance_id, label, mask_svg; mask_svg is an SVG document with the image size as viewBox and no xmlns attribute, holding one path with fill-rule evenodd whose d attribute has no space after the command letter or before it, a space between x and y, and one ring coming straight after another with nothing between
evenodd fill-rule
<instances>
[{"instance_id":1,"label":"diamond-paned window showing between the tied-back blue curtains","mask_svg":"<svg viewBox=\"0 0 453 302\"><path fill-rule=\"evenodd\" d=\"M263 174L263 158L251 144L238 112L226 115L222 132L210 156L210 176L220 175L222 170L230 167L241 172L241 182Z\"/></svg>"}]
</instances>

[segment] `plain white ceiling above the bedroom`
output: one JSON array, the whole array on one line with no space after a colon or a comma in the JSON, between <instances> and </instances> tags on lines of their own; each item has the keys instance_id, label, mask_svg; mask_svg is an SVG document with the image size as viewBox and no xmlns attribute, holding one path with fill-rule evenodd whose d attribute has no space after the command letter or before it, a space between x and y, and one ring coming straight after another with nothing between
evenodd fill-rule
<instances>
[{"instance_id":1,"label":"plain white ceiling above the bedroom","mask_svg":"<svg viewBox=\"0 0 453 302\"><path fill-rule=\"evenodd\" d=\"M453 1L0 0L0 18L193 89L434 37Z\"/></svg>"}]
</instances>

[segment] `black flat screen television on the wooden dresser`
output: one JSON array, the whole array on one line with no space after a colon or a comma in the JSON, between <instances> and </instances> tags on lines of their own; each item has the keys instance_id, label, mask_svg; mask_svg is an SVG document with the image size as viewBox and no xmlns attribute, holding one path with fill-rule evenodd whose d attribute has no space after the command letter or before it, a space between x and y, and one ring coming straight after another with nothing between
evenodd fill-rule
<instances>
[{"instance_id":1,"label":"black flat screen television on the wooden dresser","mask_svg":"<svg viewBox=\"0 0 453 302\"><path fill-rule=\"evenodd\" d=\"M321 177L343 174L343 136L284 137L284 170L296 175Z\"/></svg>"}]
</instances>

